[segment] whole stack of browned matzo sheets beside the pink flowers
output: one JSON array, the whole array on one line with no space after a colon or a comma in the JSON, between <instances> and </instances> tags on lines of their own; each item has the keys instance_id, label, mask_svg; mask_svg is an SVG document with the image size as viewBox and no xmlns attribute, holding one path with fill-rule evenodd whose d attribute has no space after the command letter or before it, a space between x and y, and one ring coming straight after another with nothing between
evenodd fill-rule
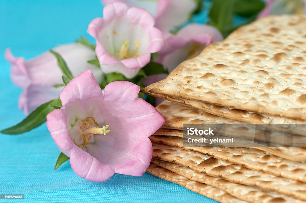
<instances>
[{"instance_id":1,"label":"whole stack of browned matzo sheets beside the pink flowers","mask_svg":"<svg viewBox=\"0 0 306 203\"><path fill-rule=\"evenodd\" d=\"M306 202L306 148L184 147L182 136L183 124L306 123L306 16L241 27L142 92L167 100L148 172L220 202Z\"/></svg>"}]
</instances>

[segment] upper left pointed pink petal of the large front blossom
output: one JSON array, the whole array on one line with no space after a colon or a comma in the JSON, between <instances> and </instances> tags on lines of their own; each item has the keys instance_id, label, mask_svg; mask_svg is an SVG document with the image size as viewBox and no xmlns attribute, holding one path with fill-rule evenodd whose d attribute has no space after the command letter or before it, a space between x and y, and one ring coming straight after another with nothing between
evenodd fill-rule
<instances>
[{"instance_id":1,"label":"upper left pointed pink petal of the large front blossom","mask_svg":"<svg viewBox=\"0 0 306 203\"><path fill-rule=\"evenodd\" d=\"M103 93L94 75L88 69L73 78L60 94L62 105L68 105L76 100L103 98Z\"/></svg>"}]
</instances>

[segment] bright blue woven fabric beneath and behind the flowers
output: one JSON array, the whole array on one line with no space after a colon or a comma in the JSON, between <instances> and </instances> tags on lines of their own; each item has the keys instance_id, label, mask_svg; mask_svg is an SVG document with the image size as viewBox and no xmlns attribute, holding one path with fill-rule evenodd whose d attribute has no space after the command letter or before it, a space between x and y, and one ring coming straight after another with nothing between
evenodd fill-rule
<instances>
[{"instance_id":1,"label":"bright blue woven fabric beneath and behind the flowers","mask_svg":"<svg viewBox=\"0 0 306 203\"><path fill-rule=\"evenodd\" d=\"M0 1L0 129L24 118L17 108L21 89L9 78L4 50L32 58L86 33L89 22L102 16L99 0ZM92 41L92 40L91 40ZM1 134L0 194L25 194L25 200L0 202L215 202L177 184L145 173L114 175L104 183L77 176L69 161L54 171L59 149L46 125L18 136Z\"/></svg>"}]
</instances>

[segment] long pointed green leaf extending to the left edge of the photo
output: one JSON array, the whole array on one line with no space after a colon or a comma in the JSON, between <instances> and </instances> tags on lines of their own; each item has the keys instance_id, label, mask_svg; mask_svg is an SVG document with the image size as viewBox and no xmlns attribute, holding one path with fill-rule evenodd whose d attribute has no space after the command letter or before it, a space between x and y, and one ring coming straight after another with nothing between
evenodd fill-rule
<instances>
[{"instance_id":1,"label":"long pointed green leaf extending to the left edge of the photo","mask_svg":"<svg viewBox=\"0 0 306 203\"><path fill-rule=\"evenodd\" d=\"M18 123L17 125L14 125L10 128L4 129L1 131L3 134L10 134L10 135L17 135L24 132L28 132L39 125L43 124L47 118L46 116L54 110L53 106L62 106L62 102L60 99L51 100L47 103L42 104L37 109L35 109L30 115L28 115L27 118L25 118L23 121Z\"/></svg>"}]
</instances>

